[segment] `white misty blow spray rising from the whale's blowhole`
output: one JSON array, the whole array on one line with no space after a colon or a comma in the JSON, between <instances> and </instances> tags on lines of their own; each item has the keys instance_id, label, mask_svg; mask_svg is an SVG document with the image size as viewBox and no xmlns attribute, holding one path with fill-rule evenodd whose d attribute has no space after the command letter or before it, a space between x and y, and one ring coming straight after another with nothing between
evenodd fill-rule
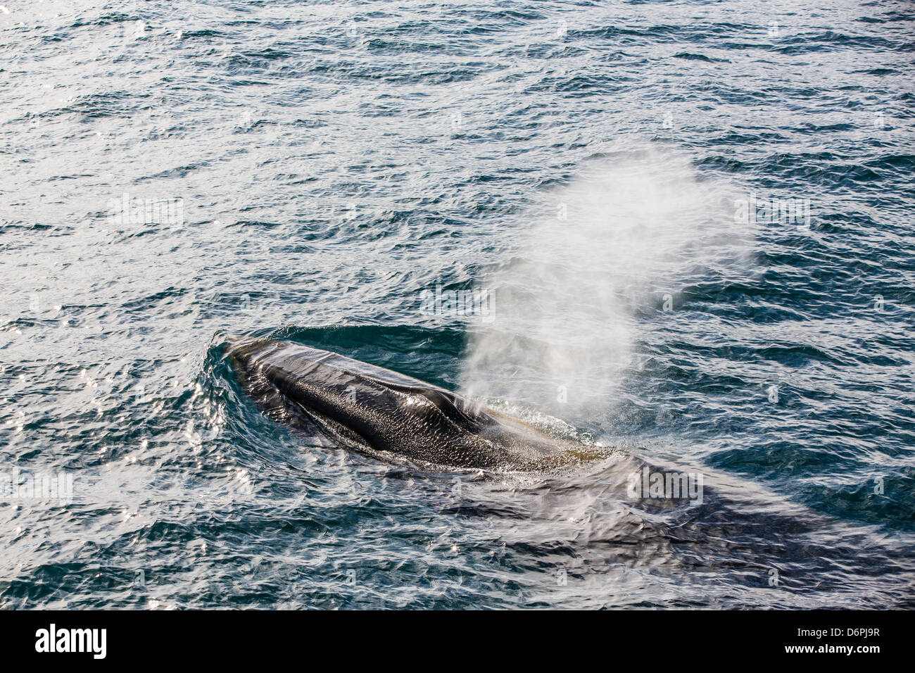
<instances>
[{"instance_id":1,"label":"white misty blow spray rising from the whale's blowhole","mask_svg":"<svg viewBox=\"0 0 915 673\"><path fill-rule=\"evenodd\" d=\"M464 390L562 418L606 412L632 365L636 311L661 309L714 247L733 247L732 203L669 150L585 168L549 195L539 211L549 216L514 261L485 279L495 315L470 335Z\"/></svg>"}]
</instances>

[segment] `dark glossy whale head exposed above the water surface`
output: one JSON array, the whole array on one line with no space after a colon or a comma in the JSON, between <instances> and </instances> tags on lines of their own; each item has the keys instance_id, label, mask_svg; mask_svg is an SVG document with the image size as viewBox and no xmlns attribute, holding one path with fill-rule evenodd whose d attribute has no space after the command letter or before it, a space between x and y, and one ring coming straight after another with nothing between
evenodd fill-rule
<instances>
[{"instance_id":1,"label":"dark glossy whale head exposed above the water surface","mask_svg":"<svg viewBox=\"0 0 915 673\"><path fill-rule=\"evenodd\" d=\"M224 353L269 418L382 461L546 471L603 455L599 447L552 437L445 388L339 353L250 337L228 340Z\"/></svg>"}]
</instances>

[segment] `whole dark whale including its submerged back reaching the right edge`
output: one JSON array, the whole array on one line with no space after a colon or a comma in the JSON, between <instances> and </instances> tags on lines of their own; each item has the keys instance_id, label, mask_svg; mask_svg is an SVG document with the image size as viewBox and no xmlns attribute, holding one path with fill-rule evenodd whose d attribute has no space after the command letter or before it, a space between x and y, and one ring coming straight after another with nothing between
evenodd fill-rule
<instances>
[{"instance_id":1,"label":"whole dark whale including its submerged back reaching the right edge","mask_svg":"<svg viewBox=\"0 0 915 673\"><path fill-rule=\"evenodd\" d=\"M720 579L737 573L740 596L778 592L782 608L855 606L862 596L913 605L899 590L915 578L909 545L764 484L657 450L548 436L442 387L298 342L238 337L220 346L242 393L306 446L356 452L397 474L405 467L421 477L426 505L459 515L508 554L533 549L544 568L568 567L588 604L630 606L630 590L668 595L674 582L674 605L732 600L737 589ZM443 476L464 485L436 489ZM669 476L687 480L679 497L667 492ZM854 592L848 569L857 569ZM550 591L549 582L529 591L541 585Z\"/></svg>"}]
</instances>

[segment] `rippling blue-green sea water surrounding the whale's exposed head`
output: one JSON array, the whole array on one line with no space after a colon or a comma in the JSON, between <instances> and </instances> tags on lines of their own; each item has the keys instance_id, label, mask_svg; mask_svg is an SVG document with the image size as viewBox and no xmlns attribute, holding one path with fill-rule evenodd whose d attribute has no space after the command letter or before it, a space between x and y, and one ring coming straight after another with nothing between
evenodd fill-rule
<instances>
[{"instance_id":1,"label":"rippling blue-green sea water surrounding the whale's exposed head","mask_svg":"<svg viewBox=\"0 0 915 673\"><path fill-rule=\"evenodd\" d=\"M817 5L4 0L0 607L915 605L915 12ZM614 458L309 446L239 334Z\"/></svg>"}]
</instances>

